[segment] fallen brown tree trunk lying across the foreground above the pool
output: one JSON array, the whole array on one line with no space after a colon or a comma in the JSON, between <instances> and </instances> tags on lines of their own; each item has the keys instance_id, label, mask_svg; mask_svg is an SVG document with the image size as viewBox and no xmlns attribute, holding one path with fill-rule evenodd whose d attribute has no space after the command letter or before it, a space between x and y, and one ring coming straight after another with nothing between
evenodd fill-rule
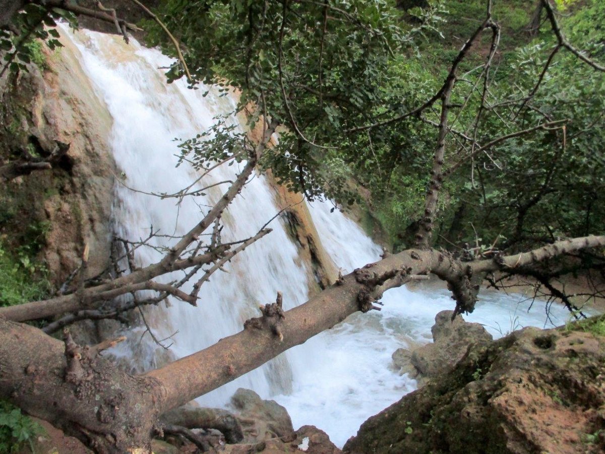
<instances>
[{"instance_id":1,"label":"fallen brown tree trunk lying across the foreground above the pool","mask_svg":"<svg viewBox=\"0 0 605 454\"><path fill-rule=\"evenodd\" d=\"M511 269L555 255L605 246L605 236L566 240L534 251L460 262L434 249L410 249L356 269L290 311L281 297L244 330L189 357L132 377L97 355L39 329L0 318L0 397L47 419L97 452L150 452L159 416L234 380L276 355L344 320L367 312L389 289L433 273L448 281L457 311L471 311L473 275Z\"/></svg>"}]
</instances>

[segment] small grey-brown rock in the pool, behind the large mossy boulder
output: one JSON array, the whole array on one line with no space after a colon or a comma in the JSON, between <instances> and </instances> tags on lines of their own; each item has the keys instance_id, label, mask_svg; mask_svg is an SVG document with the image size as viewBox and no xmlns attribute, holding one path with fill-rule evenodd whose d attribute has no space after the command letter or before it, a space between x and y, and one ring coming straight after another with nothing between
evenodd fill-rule
<instances>
[{"instance_id":1,"label":"small grey-brown rock in the pool, behind the large mossy boulder","mask_svg":"<svg viewBox=\"0 0 605 454\"><path fill-rule=\"evenodd\" d=\"M492 340L491 334L479 323L468 323L461 315L452 320L453 311L441 311L431 327L433 343L413 350L397 349L393 363L402 373L416 378L422 386L430 378L438 377L456 366L466 354L469 345Z\"/></svg>"}]
</instances>

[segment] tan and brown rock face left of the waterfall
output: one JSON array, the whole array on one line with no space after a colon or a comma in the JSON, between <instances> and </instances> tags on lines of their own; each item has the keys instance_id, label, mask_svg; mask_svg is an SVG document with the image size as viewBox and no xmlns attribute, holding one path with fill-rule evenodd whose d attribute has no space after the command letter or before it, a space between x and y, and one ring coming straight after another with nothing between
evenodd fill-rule
<instances>
[{"instance_id":1,"label":"tan and brown rock face left of the waterfall","mask_svg":"<svg viewBox=\"0 0 605 454\"><path fill-rule=\"evenodd\" d=\"M22 232L23 225L45 226L41 258L56 285L80 265L85 244L89 276L108 265L116 172L108 143L113 120L80 66L79 51L61 41L62 48L43 49L44 70L31 65L0 83L0 161L32 141L43 151L56 140L70 144L54 168L13 180L0 194L7 206L18 207L1 226L7 241L18 244L22 239L10 232Z\"/></svg>"}]
</instances>

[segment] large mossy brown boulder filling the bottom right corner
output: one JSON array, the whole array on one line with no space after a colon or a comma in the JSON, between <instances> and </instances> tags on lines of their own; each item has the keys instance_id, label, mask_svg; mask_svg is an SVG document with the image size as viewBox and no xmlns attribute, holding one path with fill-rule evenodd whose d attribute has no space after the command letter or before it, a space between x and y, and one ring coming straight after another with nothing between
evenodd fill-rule
<instances>
[{"instance_id":1,"label":"large mossy brown boulder filling the bottom right corner","mask_svg":"<svg viewBox=\"0 0 605 454\"><path fill-rule=\"evenodd\" d=\"M357 453L600 453L605 340L527 328L468 350L451 372L362 424Z\"/></svg>"}]
</instances>

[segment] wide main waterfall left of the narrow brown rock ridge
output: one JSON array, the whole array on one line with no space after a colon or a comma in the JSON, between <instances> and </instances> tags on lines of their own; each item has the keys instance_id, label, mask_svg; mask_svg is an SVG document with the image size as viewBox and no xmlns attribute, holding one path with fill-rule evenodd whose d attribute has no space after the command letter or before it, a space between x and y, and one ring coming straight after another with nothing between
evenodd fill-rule
<instances>
[{"instance_id":1,"label":"wide main waterfall left of the narrow brown rock ridge","mask_svg":"<svg viewBox=\"0 0 605 454\"><path fill-rule=\"evenodd\" d=\"M136 42L125 45L114 36L86 31L73 38L82 54L82 65L99 91L114 119L111 144L114 159L122 174L116 185L114 223L116 233L129 240L145 239L151 227L163 235L185 234L218 200L227 185L204 191L203 197L188 197L176 206L175 199L161 199L142 192L171 194L188 186L197 173L184 163L177 163L178 141L208 130L218 114L235 110L233 96L216 88L189 90L183 81L167 85L158 68L170 59L159 51L141 47ZM206 93L208 91L208 93ZM237 117L229 117L243 131ZM238 165L221 166L204 177L195 188L233 180ZM255 176L222 216L224 242L246 239L255 234L279 211L263 176ZM298 260L296 246L280 219L270 225L273 232L237 255L225 268L204 284L198 307L172 301L170 308L152 314L157 338L174 342L177 357L192 354L216 343L220 338L241 331L244 320L258 317L260 304L275 301L283 292L284 308L290 309L308 299L307 273ZM175 240L154 237L153 246L169 245ZM140 265L157 262L161 252L140 248ZM170 281L182 277L163 277ZM195 279L193 280L195 281ZM191 286L192 283L189 283ZM183 286L184 291L191 287ZM149 341L148 336L144 340ZM149 352L154 347L149 345ZM292 383L290 354L281 355L265 366L240 377L201 398L206 406L222 406L238 387L254 389L261 396L289 392ZM291 359L291 358L290 358ZM151 363L150 363L151 364Z\"/></svg>"}]
</instances>

